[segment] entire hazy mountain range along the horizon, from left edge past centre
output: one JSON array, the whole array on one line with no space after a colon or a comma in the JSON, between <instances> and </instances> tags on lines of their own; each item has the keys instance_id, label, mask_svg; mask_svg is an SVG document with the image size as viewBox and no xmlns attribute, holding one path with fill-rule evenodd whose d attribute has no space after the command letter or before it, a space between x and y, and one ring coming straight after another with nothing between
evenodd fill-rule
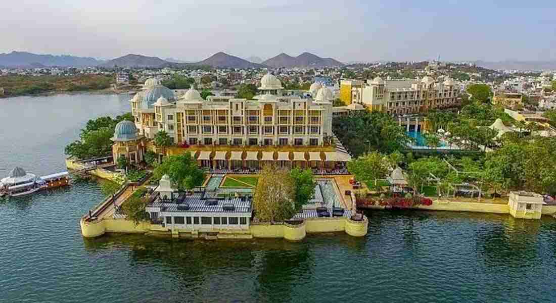
<instances>
[{"instance_id":1,"label":"entire hazy mountain range along the horizon, from left edge past centre","mask_svg":"<svg viewBox=\"0 0 556 303\"><path fill-rule=\"evenodd\" d=\"M258 61L258 62L254 62ZM200 62L185 62L172 58L161 59L147 57L140 54L127 54L126 56L108 61L88 57L52 56L50 54L33 54L27 52L11 52L0 54L0 66L5 67L83 67L99 66L105 68L115 67L191 67L210 66L214 68L261 68L261 67L340 67L343 63L332 58L321 58L311 53L302 53L291 57L281 53L262 63L259 57L250 57L249 60L219 52Z\"/></svg>"}]
</instances>

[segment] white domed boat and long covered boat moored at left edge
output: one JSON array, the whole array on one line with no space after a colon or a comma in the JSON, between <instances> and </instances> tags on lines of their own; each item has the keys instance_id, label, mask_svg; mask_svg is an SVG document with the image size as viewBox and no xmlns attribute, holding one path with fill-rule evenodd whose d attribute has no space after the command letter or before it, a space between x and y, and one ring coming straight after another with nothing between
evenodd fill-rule
<instances>
[{"instance_id":1,"label":"white domed boat and long covered boat moored at left edge","mask_svg":"<svg viewBox=\"0 0 556 303\"><path fill-rule=\"evenodd\" d=\"M37 177L33 173L27 173L21 167L15 167L7 177L0 180L0 196L25 196L39 190L68 184L69 173L67 171Z\"/></svg>"}]
</instances>

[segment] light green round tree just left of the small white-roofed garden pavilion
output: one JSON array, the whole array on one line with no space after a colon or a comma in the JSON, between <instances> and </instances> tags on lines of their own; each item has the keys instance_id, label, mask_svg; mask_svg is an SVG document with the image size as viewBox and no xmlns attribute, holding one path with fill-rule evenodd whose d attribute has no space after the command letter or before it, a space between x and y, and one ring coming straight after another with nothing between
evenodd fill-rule
<instances>
[{"instance_id":1,"label":"light green round tree just left of the small white-roofed garden pavilion","mask_svg":"<svg viewBox=\"0 0 556 303\"><path fill-rule=\"evenodd\" d=\"M375 180L386 176L388 166L387 158L375 151L347 162L347 171L372 190L377 188Z\"/></svg>"}]
</instances>

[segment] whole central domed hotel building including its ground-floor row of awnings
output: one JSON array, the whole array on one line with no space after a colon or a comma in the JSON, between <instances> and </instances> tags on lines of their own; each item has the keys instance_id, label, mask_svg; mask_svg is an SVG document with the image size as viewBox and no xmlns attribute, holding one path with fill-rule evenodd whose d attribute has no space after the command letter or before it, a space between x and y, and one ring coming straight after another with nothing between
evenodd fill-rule
<instances>
[{"instance_id":1,"label":"whole central domed hotel building including its ground-floor row of awnings","mask_svg":"<svg viewBox=\"0 0 556 303\"><path fill-rule=\"evenodd\" d=\"M131 110L139 137L152 139L158 131L166 131L177 146L190 146L197 160L211 168L230 167L230 163L214 160L241 161L246 157L305 161L301 166L312 167L349 161L349 154L330 144L333 96L329 88L314 83L311 97L306 98L286 97L282 90L280 80L268 73L262 77L260 95L254 100L216 96L203 100L193 88L177 97L150 79L132 98Z\"/></svg>"}]
</instances>

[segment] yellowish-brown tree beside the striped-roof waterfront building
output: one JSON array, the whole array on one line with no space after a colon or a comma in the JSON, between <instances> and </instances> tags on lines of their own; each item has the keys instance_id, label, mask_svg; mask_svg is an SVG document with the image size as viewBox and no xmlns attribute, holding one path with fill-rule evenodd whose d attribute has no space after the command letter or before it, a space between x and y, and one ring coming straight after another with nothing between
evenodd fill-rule
<instances>
[{"instance_id":1,"label":"yellowish-brown tree beside the striped-roof waterfront building","mask_svg":"<svg viewBox=\"0 0 556 303\"><path fill-rule=\"evenodd\" d=\"M283 168L262 168L253 196L255 217L261 222L281 222L295 215L294 179Z\"/></svg>"}]
</instances>

